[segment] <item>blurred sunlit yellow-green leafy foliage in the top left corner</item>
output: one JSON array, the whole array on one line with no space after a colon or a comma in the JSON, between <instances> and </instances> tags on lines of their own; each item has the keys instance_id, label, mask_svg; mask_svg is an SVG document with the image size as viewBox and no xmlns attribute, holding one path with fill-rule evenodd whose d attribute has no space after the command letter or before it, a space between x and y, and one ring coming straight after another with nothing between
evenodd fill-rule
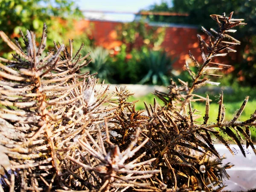
<instances>
[{"instance_id":1,"label":"blurred sunlit yellow-green leafy foliage in the top left corner","mask_svg":"<svg viewBox=\"0 0 256 192\"><path fill-rule=\"evenodd\" d=\"M72 29L73 20L83 18L74 0L0 0L0 29L10 37L20 36L29 29L37 36L47 23L47 47L52 41L62 41ZM0 55L10 49L0 40ZM11 58L12 55L5 55Z\"/></svg>"}]
</instances>

